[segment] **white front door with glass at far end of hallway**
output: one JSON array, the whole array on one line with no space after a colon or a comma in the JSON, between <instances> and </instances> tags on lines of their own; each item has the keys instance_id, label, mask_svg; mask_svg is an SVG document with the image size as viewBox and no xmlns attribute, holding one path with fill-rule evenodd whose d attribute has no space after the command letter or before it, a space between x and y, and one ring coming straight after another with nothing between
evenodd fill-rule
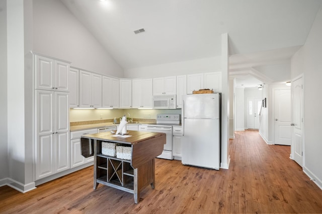
<instances>
[{"instance_id":1,"label":"white front door with glass at far end of hallway","mask_svg":"<svg viewBox=\"0 0 322 214\"><path fill-rule=\"evenodd\" d=\"M261 98L247 98L247 128L260 128Z\"/></svg>"}]
</instances>

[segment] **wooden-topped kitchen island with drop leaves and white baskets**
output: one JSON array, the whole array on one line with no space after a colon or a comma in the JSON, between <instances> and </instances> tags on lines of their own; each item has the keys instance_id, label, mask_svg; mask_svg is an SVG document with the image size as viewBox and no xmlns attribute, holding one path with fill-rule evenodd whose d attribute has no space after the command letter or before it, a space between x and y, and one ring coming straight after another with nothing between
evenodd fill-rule
<instances>
[{"instance_id":1,"label":"wooden-topped kitchen island with drop leaves and white baskets","mask_svg":"<svg viewBox=\"0 0 322 214\"><path fill-rule=\"evenodd\" d=\"M82 154L94 155L94 189L99 183L121 189L133 193L138 203L143 188L154 188L155 157L163 152L165 133L128 131L125 136L115 137L114 133L103 132L84 135L81 141ZM112 154L103 154L105 146L113 143L119 151L113 154L110 149ZM122 148L127 151L124 157Z\"/></svg>"}]
</instances>

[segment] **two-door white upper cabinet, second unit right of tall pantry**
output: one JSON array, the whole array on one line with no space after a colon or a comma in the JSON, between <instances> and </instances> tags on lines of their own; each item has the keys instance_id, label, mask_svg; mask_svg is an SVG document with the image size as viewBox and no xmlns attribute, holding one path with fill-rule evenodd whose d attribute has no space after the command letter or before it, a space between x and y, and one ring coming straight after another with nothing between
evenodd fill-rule
<instances>
[{"instance_id":1,"label":"two-door white upper cabinet, second unit right of tall pantry","mask_svg":"<svg viewBox=\"0 0 322 214\"><path fill-rule=\"evenodd\" d=\"M102 75L79 71L79 107L102 107Z\"/></svg>"}]
</instances>

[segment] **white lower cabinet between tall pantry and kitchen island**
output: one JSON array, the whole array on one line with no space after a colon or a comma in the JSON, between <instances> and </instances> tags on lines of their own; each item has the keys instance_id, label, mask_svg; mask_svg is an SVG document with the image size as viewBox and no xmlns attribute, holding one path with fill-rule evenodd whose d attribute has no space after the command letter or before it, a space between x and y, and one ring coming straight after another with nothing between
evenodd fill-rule
<instances>
[{"instance_id":1,"label":"white lower cabinet between tall pantry and kitchen island","mask_svg":"<svg viewBox=\"0 0 322 214\"><path fill-rule=\"evenodd\" d=\"M81 136L95 133L97 133L97 129L70 132L70 168L74 168L94 160L94 156L88 158L83 157L81 149Z\"/></svg>"}]
</instances>

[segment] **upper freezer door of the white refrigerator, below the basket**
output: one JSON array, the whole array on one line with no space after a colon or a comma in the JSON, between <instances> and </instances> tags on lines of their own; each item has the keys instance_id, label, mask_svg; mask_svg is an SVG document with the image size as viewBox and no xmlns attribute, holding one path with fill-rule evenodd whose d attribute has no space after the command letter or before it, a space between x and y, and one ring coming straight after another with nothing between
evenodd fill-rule
<instances>
[{"instance_id":1,"label":"upper freezer door of the white refrigerator, below the basket","mask_svg":"<svg viewBox=\"0 0 322 214\"><path fill-rule=\"evenodd\" d=\"M219 94L193 94L183 96L185 118L219 118Z\"/></svg>"}]
</instances>

